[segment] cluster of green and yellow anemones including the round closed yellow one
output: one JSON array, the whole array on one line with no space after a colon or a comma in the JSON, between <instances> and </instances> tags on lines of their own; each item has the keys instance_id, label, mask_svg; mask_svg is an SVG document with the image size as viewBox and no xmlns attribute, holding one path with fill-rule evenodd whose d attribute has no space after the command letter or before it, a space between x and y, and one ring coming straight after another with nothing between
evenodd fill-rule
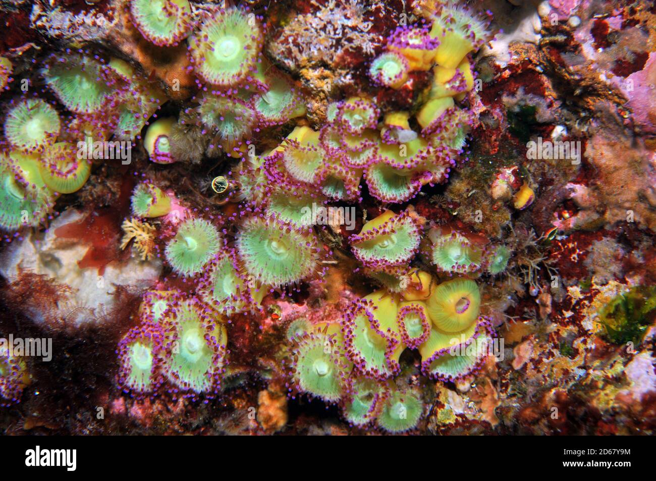
<instances>
[{"instance_id":1,"label":"cluster of green and yellow anemones including the round closed yellow one","mask_svg":"<svg viewBox=\"0 0 656 481\"><path fill-rule=\"evenodd\" d=\"M354 302L340 323L295 324L291 389L338 402L354 425L375 420L391 432L413 429L423 404L418 392L394 379L401 353L419 350L422 373L434 379L469 375L491 342L480 303L474 281L437 284L419 272L400 293L376 291Z\"/></svg>"}]
</instances>

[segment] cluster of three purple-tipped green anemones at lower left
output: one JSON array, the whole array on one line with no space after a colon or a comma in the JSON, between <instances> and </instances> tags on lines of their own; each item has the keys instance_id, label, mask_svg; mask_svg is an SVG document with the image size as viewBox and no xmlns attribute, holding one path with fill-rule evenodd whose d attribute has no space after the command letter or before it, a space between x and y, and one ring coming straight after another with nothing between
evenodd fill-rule
<instances>
[{"instance_id":1,"label":"cluster of three purple-tipped green anemones at lower left","mask_svg":"<svg viewBox=\"0 0 656 481\"><path fill-rule=\"evenodd\" d=\"M185 396L218 392L228 354L221 314L178 291L150 291L138 321L116 351L117 382L125 392L150 395L163 385Z\"/></svg>"}]
</instances>

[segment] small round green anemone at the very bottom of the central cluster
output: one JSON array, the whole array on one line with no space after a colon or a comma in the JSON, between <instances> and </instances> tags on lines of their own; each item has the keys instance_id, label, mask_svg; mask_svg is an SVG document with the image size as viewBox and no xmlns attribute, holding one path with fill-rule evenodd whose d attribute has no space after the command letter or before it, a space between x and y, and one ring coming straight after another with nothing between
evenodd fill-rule
<instances>
[{"instance_id":1,"label":"small round green anemone at the very bottom of the central cluster","mask_svg":"<svg viewBox=\"0 0 656 481\"><path fill-rule=\"evenodd\" d=\"M405 432L417 427L423 411L424 403L419 392L391 388L385 394L376 421L388 432Z\"/></svg>"}]
</instances>

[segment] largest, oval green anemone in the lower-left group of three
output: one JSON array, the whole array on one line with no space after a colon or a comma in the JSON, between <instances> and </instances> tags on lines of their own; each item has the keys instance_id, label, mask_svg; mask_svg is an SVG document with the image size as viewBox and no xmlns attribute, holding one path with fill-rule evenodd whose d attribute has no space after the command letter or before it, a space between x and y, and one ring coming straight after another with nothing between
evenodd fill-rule
<instances>
[{"instance_id":1,"label":"largest, oval green anemone in the lower-left group of three","mask_svg":"<svg viewBox=\"0 0 656 481\"><path fill-rule=\"evenodd\" d=\"M195 297L176 301L165 318L163 369L169 381L195 393L217 392L228 354L223 318Z\"/></svg>"}]
</instances>

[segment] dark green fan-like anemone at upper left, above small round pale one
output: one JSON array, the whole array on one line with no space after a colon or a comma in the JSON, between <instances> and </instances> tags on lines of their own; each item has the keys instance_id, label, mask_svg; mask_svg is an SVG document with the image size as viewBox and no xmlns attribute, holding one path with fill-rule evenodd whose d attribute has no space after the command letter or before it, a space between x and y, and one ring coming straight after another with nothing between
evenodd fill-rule
<instances>
[{"instance_id":1,"label":"dark green fan-like anemone at upper left, above small round pale one","mask_svg":"<svg viewBox=\"0 0 656 481\"><path fill-rule=\"evenodd\" d=\"M46 62L43 78L68 110L92 114L112 100L119 77L113 78L106 65L89 56L68 53L53 54Z\"/></svg>"}]
</instances>

